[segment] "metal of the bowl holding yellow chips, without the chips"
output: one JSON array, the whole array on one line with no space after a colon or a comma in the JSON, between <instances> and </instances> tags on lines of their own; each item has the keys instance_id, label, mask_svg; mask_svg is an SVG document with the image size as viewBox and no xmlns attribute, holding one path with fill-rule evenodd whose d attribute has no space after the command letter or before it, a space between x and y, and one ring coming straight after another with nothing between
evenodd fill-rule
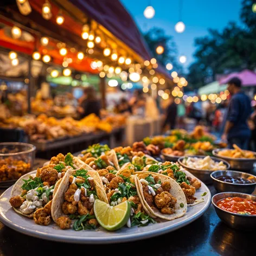
<instances>
[{"instance_id":1,"label":"metal of the bowl holding yellow chips, without the chips","mask_svg":"<svg viewBox=\"0 0 256 256\"><path fill-rule=\"evenodd\" d=\"M256 158L250 159L250 158L233 158L233 157L220 156L219 152L222 150L227 150L227 149L214 149L213 155L227 161L231 165L231 169L238 170L238 171L249 171L253 169L253 164L256 162ZM256 153L255 152L253 153L256 157Z\"/></svg>"}]
</instances>

